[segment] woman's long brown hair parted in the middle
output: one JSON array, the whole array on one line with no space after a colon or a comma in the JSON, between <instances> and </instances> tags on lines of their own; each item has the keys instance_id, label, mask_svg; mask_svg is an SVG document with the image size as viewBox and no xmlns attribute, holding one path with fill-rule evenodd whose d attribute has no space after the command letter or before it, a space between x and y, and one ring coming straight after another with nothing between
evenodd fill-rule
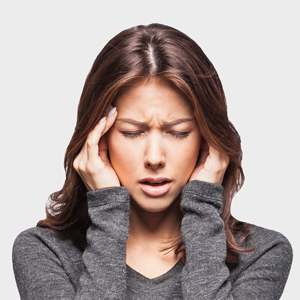
<instances>
[{"instance_id":1,"label":"woman's long brown hair parted in the middle","mask_svg":"<svg viewBox=\"0 0 300 300\"><path fill-rule=\"evenodd\" d=\"M234 238L240 241L251 231L249 224L236 220L230 212L232 198L244 183L241 166L240 136L227 116L225 94L219 76L202 49L184 33L161 24L136 26L112 38L97 56L88 74L78 105L77 124L67 147L64 167L66 180L60 191L50 195L46 219L38 226L49 227L79 247L87 246L86 232L90 225L86 187L73 168L73 161L85 143L88 133L104 116L117 94L138 80L165 80L182 91L189 99L203 138L217 150L230 157L222 185L227 263L237 263L241 252ZM185 249L178 236L175 253Z\"/></svg>"}]
</instances>

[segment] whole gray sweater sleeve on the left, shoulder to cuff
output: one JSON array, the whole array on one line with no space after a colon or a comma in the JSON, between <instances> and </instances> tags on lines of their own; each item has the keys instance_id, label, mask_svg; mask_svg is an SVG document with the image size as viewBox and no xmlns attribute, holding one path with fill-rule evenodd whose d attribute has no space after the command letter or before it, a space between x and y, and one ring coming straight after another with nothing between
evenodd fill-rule
<instances>
[{"instance_id":1,"label":"whole gray sweater sleeve on the left, shoulder to cuff","mask_svg":"<svg viewBox=\"0 0 300 300\"><path fill-rule=\"evenodd\" d=\"M20 234L13 247L13 268L21 299L126 299L129 190L90 191L87 200L91 224L78 284L72 282L55 251L59 245L49 247L36 237Z\"/></svg>"}]
</instances>

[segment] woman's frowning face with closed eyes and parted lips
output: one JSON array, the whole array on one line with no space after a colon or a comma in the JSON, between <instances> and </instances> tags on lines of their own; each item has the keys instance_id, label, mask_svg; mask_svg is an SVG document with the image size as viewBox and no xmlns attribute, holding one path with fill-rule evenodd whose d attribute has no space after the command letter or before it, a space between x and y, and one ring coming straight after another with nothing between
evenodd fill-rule
<instances>
[{"instance_id":1,"label":"woman's frowning face with closed eyes and parted lips","mask_svg":"<svg viewBox=\"0 0 300 300\"><path fill-rule=\"evenodd\" d=\"M155 80L136 83L117 97L115 106L117 119L106 133L111 164L133 201L146 211L163 211L197 162L201 135L193 109L176 88ZM171 183L140 184L146 177Z\"/></svg>"}]
</instances>

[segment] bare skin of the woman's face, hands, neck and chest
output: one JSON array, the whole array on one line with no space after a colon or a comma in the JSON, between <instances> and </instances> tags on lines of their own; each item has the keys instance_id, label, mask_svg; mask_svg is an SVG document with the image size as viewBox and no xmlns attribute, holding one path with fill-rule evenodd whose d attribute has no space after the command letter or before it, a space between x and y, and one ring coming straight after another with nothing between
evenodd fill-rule
<instances>
[{"instance_id":1,"label":"bare skin of the woman's face, hands, neck and chest","mask_svg":"<svg viewBox=\"0 0 300 300\"><path fill-rule=\"evenodd\" d=\"M154 278L180 259L173 251L159 251L167 245L162 241L179 233L180 191L191 180L221 184L229 158L201 137L191 105L170 84L156 80L136 83L119 95L115 106L117 112L90 132L73 166L88 190L120 185L129 189L126 263ZM163 126L183 118L190 121ZM133 125L124 119L147 125ZM172 180L168 193L156 197L144 193L138 181L158 176Z\"/></svg>"}]
</instances>

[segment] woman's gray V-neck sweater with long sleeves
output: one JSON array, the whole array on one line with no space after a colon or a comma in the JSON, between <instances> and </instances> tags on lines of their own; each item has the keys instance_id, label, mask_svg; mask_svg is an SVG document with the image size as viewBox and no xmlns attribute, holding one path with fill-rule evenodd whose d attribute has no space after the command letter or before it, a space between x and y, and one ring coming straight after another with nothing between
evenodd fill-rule
<instances>
[{"instance_id":1,"label":"woman's gray V-neck sweater with long sleeves","mask_svg":"<svg viewBox=\"0 0 300 300\"><path fill-rule=\"evenodd\" d=\"M223 187L193 180L181 191L186 264L149 279L126 264L130 194L126 187L87 192L91 225L84 253L47 228L18 235L13 268L21 299L279 299L293 249L279 232L252 225L238 264L225 263ZM237 239L238 236L236 236Z\"/></svg>"}]
</instances>

